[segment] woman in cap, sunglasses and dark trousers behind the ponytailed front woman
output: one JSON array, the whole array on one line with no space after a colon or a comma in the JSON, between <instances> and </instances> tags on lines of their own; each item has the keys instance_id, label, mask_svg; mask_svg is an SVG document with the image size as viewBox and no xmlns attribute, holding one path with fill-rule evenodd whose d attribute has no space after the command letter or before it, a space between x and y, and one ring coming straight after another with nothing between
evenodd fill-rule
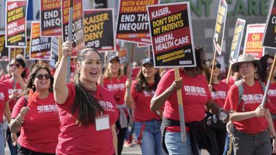
<instances>
[{"instance_id":1,"label":"woman in cap, sunglasses and dark trousers behind the ponytailed front woman","mask_svg":"<svg viewBox=\"0 0 276 155\"><path fill-rule=\"evenodd\" d=\"M127 77L124 76L121 70L121 63L118 56L111 56L108 59L108 66L106 72L103 74L103 87L114 93L114 99L116 101L116 107L119 110L119 118L116 122L116 127L119 132L118 138L118 154L121 155L121 151L124 145L124 138L126 137L126 130L128 129L128 108L124 102L124 94L126 91L125 83Z\"/></svg>"}]
</instances>

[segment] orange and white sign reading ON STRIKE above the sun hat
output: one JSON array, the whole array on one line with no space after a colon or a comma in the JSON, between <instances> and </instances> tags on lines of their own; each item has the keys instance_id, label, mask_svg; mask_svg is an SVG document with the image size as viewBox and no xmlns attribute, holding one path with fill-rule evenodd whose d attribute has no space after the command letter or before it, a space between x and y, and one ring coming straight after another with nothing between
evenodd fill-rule
<instances>
[{"instance_id":1,"label":"orange and white sign reading ON STRIKE above the sun hat","mask_svg":"<svg viewBox=\"0 0 276 155\"><path fill-rule=\"evenodd\" d=\"M264 55L262 39L265 26L265 23L247 25L246 39L244 41L244 54L253 54L255 59L260 59Z\"/></svg>"}]
</instances>

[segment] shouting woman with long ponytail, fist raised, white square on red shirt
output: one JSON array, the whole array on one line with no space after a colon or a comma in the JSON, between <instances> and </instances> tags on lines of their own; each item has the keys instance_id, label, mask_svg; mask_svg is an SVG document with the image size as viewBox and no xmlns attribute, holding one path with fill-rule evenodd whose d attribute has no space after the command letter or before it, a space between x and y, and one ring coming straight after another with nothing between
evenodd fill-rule
<instances>
[{"instance_id":1,"label":"shouting woman with long ponytail, fist raised, white square on red shirt","mask_svg":"<svg viewBox=\"0 0 276 155\"><path fill-rule=\"evenodd\" d=\"M57 154L117 154L118 114L112 92L97 84L102 70L99 52L92 48L81 50L75 81L67 84L67 58L72 54L72 43L63 43L62 52L54 83L61 120Z\"/></svg>"}]
</instances>

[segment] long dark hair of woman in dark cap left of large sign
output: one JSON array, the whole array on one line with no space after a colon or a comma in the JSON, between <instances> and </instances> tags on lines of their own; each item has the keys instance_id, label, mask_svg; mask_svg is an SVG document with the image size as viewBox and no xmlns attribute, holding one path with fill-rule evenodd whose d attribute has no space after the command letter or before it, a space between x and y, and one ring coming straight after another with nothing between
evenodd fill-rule
<instances>
[{"instance_id":1,"label":"long dark hair of woman in dark cap left of large sign","mask_svg":"<svg viewBox=\"0 0 276 155\"><path fill-rule=\"evenodd\" d=\"M157 70L157 72L155 73L155 84L150 87L148 85L148 81L146 80L146 77L144 76L144 74L142 72L142 68L143 67L141 67L139 74L137 76L137 85L136 85L135 89L138 92L141 92L142 90L156 90L157 85L161 79L159 71Z\"/></svg>"}]
</instances>

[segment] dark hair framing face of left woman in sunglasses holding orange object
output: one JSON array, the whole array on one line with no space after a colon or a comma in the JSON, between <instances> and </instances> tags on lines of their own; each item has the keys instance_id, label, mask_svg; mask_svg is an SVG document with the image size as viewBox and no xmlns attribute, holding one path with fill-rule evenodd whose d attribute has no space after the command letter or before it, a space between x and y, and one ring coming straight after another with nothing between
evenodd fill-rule
<instances>
[{"instance_id":1,"label":"dark hair framing face of left woman in sunglasses holding orange object","mask_svg":"<svg viewBox=\"0 0 276 155\"><path fill-rule=\"evenodd\" d=\"M54 78L51 75L51 72L49 70L49 68L41 66L41 65L36 65L34 66L34 68L32 68L32 72L30 72L30 75L28 77L28 81L27 81L27 94L29 94L30 90L32 90L33 92L35 92L35 87L34 87L34 79L37 76L37 72L39 72L39 70L46 70L48 72L48 74L50 75L50 88L49 88L49 92L52 92L52 84L54 83Z\"/></svg>"}]
</instances>

